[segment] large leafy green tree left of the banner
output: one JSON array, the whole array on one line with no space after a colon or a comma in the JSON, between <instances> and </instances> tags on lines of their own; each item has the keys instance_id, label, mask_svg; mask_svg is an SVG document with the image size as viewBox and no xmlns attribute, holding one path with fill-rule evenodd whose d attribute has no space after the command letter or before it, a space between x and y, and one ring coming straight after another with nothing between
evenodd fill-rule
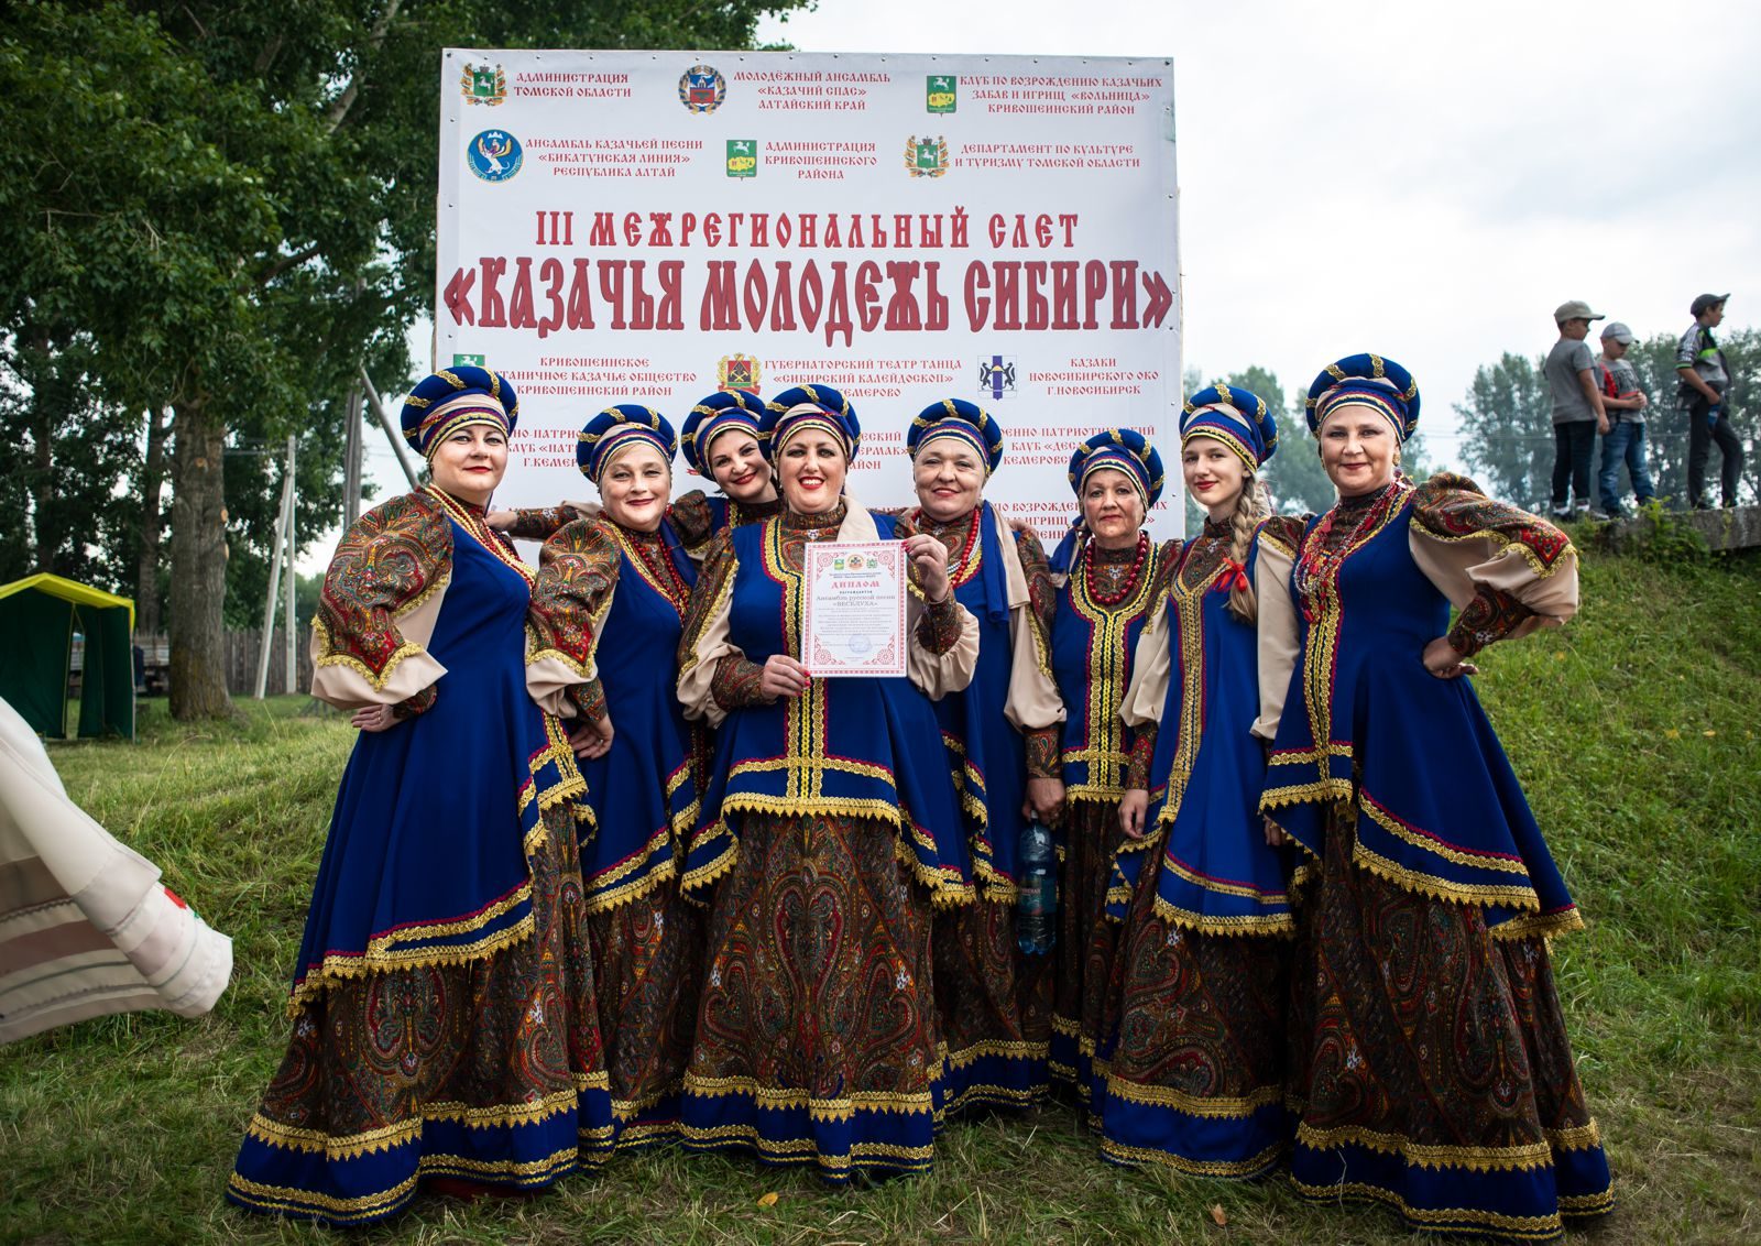
<instances>
[{"instance_id":1,"label":"large leafy green tree left of the banner","mask_svg":"<svg viewBox=\"0 0 1761 1246\"><path fill-rule=\"evenodd\" d=\"M0 118L53 141L0 148L0 341L88 343L90 410L129 429L136 495L120 537L95 544L111 583L143 597L162 579L171 484L176 716L231 707L222 623L248 597L276 493L250 451L312 438L299 491L315 531L335 516L357 364L407 375L403 331L431 299L440 49L747 48L761 14L801 2L9 7ZM48 412L53 394L19 380ZM41 473L58 445L32 442ZM63 449L77 470L79 447ZM51 526L41 487L7 489Z\"/></svg>"}]
</instances>

